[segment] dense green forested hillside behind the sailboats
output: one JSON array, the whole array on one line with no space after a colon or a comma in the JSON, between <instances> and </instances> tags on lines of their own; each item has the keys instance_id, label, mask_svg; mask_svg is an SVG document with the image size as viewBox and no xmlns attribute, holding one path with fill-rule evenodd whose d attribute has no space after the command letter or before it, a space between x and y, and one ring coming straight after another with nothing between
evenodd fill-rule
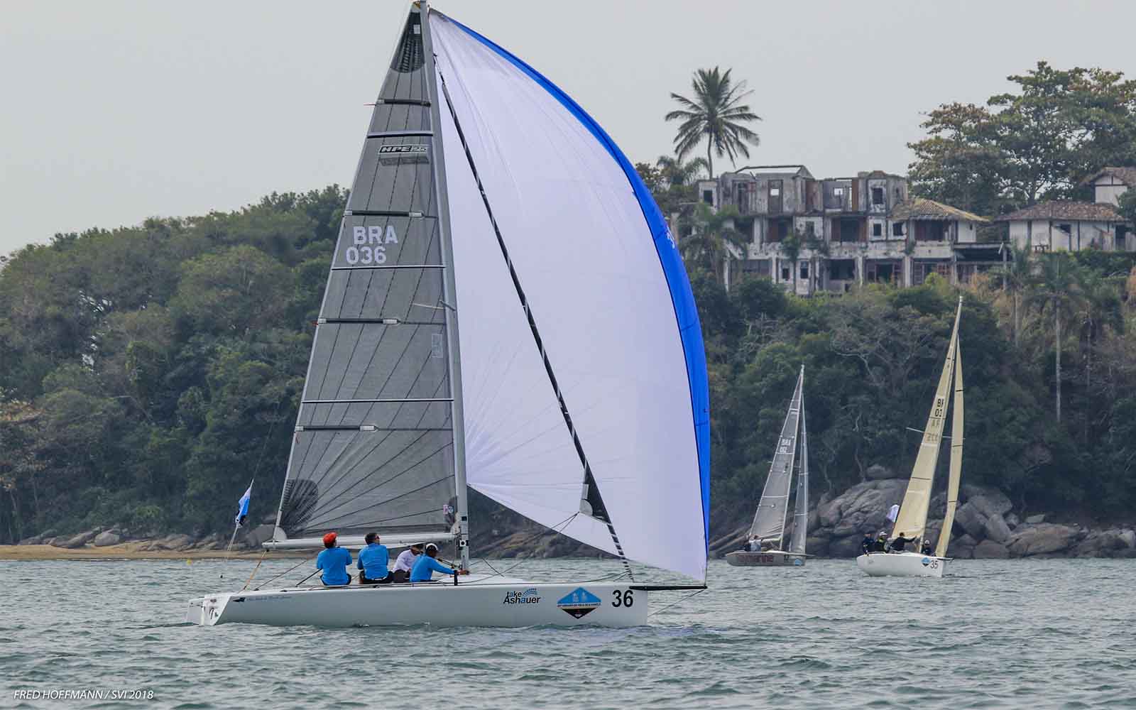
<instances>
[{"instance_id":1,"label":"dense green forested hillside behind the sailboats","mask_svg":"<svg viewBox=\"0 0 1136 710\"><path fill-rule=\"evenodd\" d=\"M47 527L223 531L253 473L253 516L275 510L344 199L335 186L273 194L10 256L0 270L5 541ZM1124 517L1136 503L1130 262L1080 258L1089 266L1066 259L1060 421L1044 269L1022 265L1036 274L964 291L964 476L1024 510ZM910 466L918 435L907 427L927 417L951 286L803 300L762 279L727 295L696 267L692 281L710 365L716 531L752 513L801 364L815 500L871 465Z\"/></svg>"}]
</instances>

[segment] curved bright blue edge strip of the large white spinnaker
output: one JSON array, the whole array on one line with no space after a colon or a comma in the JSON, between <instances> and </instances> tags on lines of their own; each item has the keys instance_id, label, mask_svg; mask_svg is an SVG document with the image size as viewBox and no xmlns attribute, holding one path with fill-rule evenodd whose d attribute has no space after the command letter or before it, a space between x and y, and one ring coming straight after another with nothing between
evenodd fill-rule
<instances>
[{"instance_id":1,"label":"curved bright blue edge strip of the large white spinnaker","mask_svg":"<svg viewBox=\"0 0 1136 710\"><path fill-rule=\"evenodd\" d=\"M437 11L437 10L432 10ZM651 197L651 191L643 184L643 179L635 172L635 167L627 159L611 136L600 127L600 124L587 115L576 101L559 86L546 80L540 72L525 64L508 50L503 49L492 40L483 36L478 32L470 30L466 25L446 15L446 20L461 27L469 36L476 39L485 47L492 49L518 69L524 72L534 82L540 84L552 97L575 116L587 131L595 136L607 149L627 176L640 208L643 210L643 219L646 220L651 229L651 237L654 241L655 252L659 254L659 262L662 273L667 278L667 286L670 289L670 300L675 307L675 318L678 323L678 334L683 343L683 353L686 359L686 378L691 389L691 410L694 412L694 441L699 449L699 479L702 491L702 527L705 534L705 543L710 544L710 392L709 379L707 377L705 346L702 342L702 325L699 323L699 311L694 303L694 293L691 291L691 282L686 277L686 267L675 248L675 240L667 228L667 222L662 217L662 211Z\"/></svg>"}]
</instances>

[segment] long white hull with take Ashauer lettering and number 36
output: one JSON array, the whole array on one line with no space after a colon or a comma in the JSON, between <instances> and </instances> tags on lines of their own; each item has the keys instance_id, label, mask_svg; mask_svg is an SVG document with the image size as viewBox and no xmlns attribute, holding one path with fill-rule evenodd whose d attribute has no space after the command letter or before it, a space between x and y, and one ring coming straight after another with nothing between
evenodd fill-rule
<instances>
[{"instance_id":1,"label":"long white hull with take Ashauer lettering and number 36","mask_svg":"<svg viewBox=\"0 0 1136 710\"><path fill-rule=\"evenodd\" d=\"M426 584L298 587L192 599L185 620L203 626L642 626L648 592L612 583L493 578Z\"/></svg>"}]
</instances>

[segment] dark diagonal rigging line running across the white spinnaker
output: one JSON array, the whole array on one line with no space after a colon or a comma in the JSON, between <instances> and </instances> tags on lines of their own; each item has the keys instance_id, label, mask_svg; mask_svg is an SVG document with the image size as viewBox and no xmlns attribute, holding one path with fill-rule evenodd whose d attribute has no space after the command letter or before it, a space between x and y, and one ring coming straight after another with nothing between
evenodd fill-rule
<instances>
[{"instance_id":1,"label":"dark diagonal rigging line running across the white spinnaker","mask_svg":"<svg viewBox=\"0 0 1136 710\"><path fill-rule=\"evenodd\" d=\"M435 61L437 57L435 55ZM474 162L474 156L469 150L469 143L466 141L466 134L461 130L461 122L458 120L458 112L453 108L453 101L450 99L450 90L445 83L445 75L442 73L441 68L435 65L435 70L437 72L438 81L442 83L442 94L445 97L446 108L450 109L450 117L453 119L453 127L458 133L458 140L461 141L461 148L466 152L466 160L469 162L469 170L473 173L474 181L477 183L477 190L482 194L482 202L485 204L485 212L490 218L490 224L493 225L493 233L496 235L498 247L501 248L501 256L504 258L506 266L509 267L509 276L512 278L512 285L517 290L517 298L520 299L520 304L525 309L525 316L528 319L528 328L533 333L533 340L536 342L536 349L541 353L541 360L544 362L544 371L549 376L549 382L552 385L552 391L556 393L557 401L560 404L560 412L563 415L565 425L568 427L568 433L571 435L573 443L576 446L576 454L579 457L579 461L584 467L584 485L586 486L588 499L592 494L595 494L594 506L592 506L593 517L596 520L605 523L608 526L608 533L611 534L611 542L616 546L616 552L619 558L624 560L624 565L627 566L627 574L630 574L630 565L627 562L627 556L624 553L624 546L619 542L619 536L616 534L616 527L611 523L611 516L608 513L608 508L603 503L603 496L600 493L600 486L595 481L595 476L592 474L592 466L587 461L587 454L584 453L584 445L579 441L579 434L576 432L576 426L573 424L571 415L568 414L568 404L565 402L563 393L560 391L560 385L557 382L556 373L552 371L552 361L549 360L548 352L544 350L544 341L541 340L541 332L536 327L536 318L533 316L533 310L528 306L528 299L525 296L525 290L520 285L520 277L517 276L517 269L512 265L512 259L509 257L509 250L504 244L504 236L501 234L501 228L498 226L496 217L493 216L493 208L490 206L488 194L485 192L485 185L482 184L482 177L477 173L477 165ZM441 128L441 126L438 126ZM593 501L588 501L592 503ZM599 510L596 510L599 508ZM635 577L633 576L634 580Z\"/></svg>"}]
</instances>

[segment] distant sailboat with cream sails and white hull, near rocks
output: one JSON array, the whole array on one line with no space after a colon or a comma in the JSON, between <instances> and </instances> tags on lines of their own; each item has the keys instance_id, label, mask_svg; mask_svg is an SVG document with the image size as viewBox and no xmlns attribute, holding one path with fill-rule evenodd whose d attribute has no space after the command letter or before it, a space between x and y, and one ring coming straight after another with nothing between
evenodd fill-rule
<instances>
[{"instance_id":1,"label":"distant sailboat with cream sails and white hull, near rocks","mask_svg":"<svg viewBox=\"0 0 1136 710\"><path fill-rule=\"evenodd\" d=\"M951 542L951 527L954 525L954 510L959 501L959 478L962 475L963 442L963 402L962 402L962 352L959 346L959 320L962 317L962 296L954 311L954 328L951 331L951 343L946 350L946 361L935 390L935 401L927 417L922 442L916 463L911 470L911 479L900 506L895 526L895 535L913 540L914 551L872 552L857 558L857 566L872 577L942 577L950 558L946 548ZM951 463L946 483L946 515L943 517L943 529L938 534L935 554L919 552L927 527L927 510L930 507L932 484L935 479L935 463L938 459L939 444L943 440L943 426L946 423L946 410L951 398L953 375L954 410L951 417Z\"/></svg>"}]
</instances>

